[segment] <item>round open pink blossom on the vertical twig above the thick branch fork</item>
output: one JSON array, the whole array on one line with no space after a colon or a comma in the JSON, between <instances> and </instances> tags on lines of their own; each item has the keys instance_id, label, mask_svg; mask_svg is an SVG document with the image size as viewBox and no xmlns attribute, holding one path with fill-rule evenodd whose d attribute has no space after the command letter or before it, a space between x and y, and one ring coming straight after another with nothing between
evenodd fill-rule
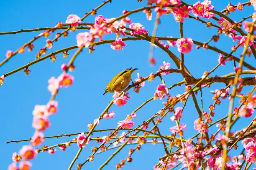
<instances>
[{"instance_id":1,"label":"round open pink blossom on the vertical twig above the thick branch fork","mask_svg":"<svg viewBox=\"0 0 256 170\"><path fill-rule=\"evenodd\" d=\"M176 41L176 45L178 47L178 51L181 53L188 53L192 50L194 42L191 38L184 37L180 38Z\"/></svg>"}]
</instances>

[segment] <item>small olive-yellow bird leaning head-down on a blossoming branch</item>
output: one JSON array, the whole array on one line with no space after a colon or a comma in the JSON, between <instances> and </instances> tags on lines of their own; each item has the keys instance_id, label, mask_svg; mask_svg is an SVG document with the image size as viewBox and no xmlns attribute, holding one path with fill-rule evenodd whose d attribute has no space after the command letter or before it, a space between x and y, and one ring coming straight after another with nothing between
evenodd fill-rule
<instances>
[{"instance_id":1,"label":"small olive-yellow bird leaning head-down on a blossoming branch","mask_svg":"<svg viewBox=\"0 0 256 170\"><path fill-rule=\"evenodd\" d=\"M105 95L107 92L114 92L118 91L121 92L125 89L125 87L128 86L129 82L131 81L131 74L135 71L138 70L138 68L127 68L121 72L119 72L113 79L108 83L106 86L106 90L103 93Z\"/></svg>"}]
</instances>

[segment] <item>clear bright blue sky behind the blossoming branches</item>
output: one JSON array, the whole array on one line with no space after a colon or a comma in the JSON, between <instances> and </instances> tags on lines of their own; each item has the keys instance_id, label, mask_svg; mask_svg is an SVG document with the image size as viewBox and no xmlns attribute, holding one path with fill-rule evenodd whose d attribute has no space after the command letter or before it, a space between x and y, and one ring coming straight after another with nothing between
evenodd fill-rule
<instances>
[{"instance_id":1,"label":"clear bright blue sky behind the blossoming branches","mask_svg":"<svg viewBox=\"0 0 256 170\"><path fill-rule=\"evenodd\" d=\"M197 1L186 1L187 3L194 4ZM233 4L237 4L237 0L233 0ZM20 29L29 28L43 28L52 27L56 25L57 22L66 21L69 14L76 14L82 18L84 13L89 12L94 7L100 5L101 1L90 1L86 2L84 0L77 0L76 2L71 2L68 0L51 0L51 1L0 1L0 32L13 31ZM113 0L111 4L107 4L97 11L97 15L104 15L105 18L113 18L122 15L122 11L133 10L142 7L146 4L146 1L137 2L133 1L117 1ZM224 3L213 2L212 5L215 6L215 10L222 10L228 5L228 1ZM236 11L230 15L230 18L236 21L240 21L243 17L250 15L253 12L253 7L245 7L245 10ZM94 16L89 16L85 22L93 22ZM146 20L145 13L136 13L129 18L133 22L141 23L151 35L154 26L155 13L153 12L153 20ZM206 19L204 19L206 20ZM212 20L213 23L216 23ZM86 30L85 30L86 31ZM216 28L208 29L205 25L192 19L185 19L184 22L184 36L191 37L193 40L206 42L212 35L216 33ZM61 32L58 30L56 32ZM48 51L54 52L55 50L76 45L75 36L78 32L84 32L83 30L77 30L76 32L69 33L66 38L61 37L53 47ZM17 35L0 35L1 45L0 45L0 60L5 59L5 52L7 50L15 51L21 45L31 40L34 36L41 32L24 32ZM161 24L157 30L156 35L158 36L173 36L179 37L179 23L177 23L172 15L164 15L161 18ZM55 34L50 35L50 39L53 39ZM108 35L103 37L104 40L115 39L115 35ZM34 57L40 48L45 45L45 38L41 38L34 42L34 50L32 52L25 52L24 54L15 55L9 62L5 63L0 67L0 75L3 75L15 68L27 64L34 60ZM154 57L156 58L156 66L151 67L148 64L148 52L149 43L146 41L126 41L126 47L118 52L117 50L112 50L109 44L104 44L97 46L93 54L89 54L87 49L84 49L82 53L79 54L74 62L76 66L74 72L74 85L68 88L62 88L59 94L56 96L56 100L59 102L59 111L56 115L50 117L51 127L45 131L45 136L68 134L68 133L78 133L82 131L87 131L87 124L93 122L101 112L108 105L108 102L112 100L112 94L108 93L102 96L105 91L105 86L121 70L125 70L129 67L138 68L136 72L133 73L132 79L137 78L136 73L139 72L141 76L146 77L151 72L156 72L158 67L162 65L163 61L170 62L171 68L176 68L174 62L169 58L169 56L163 52L161 49L154 49ZM165 42L166 43L166 42ZM220 36L220 41L218 43L211 42L210 45L216 46L221 50L230 52L230 47L234 45L234 42L224 35ZM196 45L192 52L185 54L185 65L189 71L195 77L201 77L203 72L206 70L211 70L215 65L218 64L218 53L212 52L211 50L199 49L197 50ZM178 57L179 52L177 47L173 47L170 50L174 52ZM241 54L241 49L239 49L235 56L239 57ZM13 152L18 152L23 145L28 145L28 142L23 143L10 143L5 144L9 140L21 140L31 138L34 129L32 128L32 111L34 105L44 105L46 104L51 93L47 90L48 80L51 76L58 77L61 74L60 66L62 63L68 63L70 57L74 54L75 50L69 51L69 56L63 59L62 55L57 55L56 62L51 62L50 59L44 60L37 63L29 69L31 74L25 76L23 71L17 72L9 77L6 77L5 82L0 87L0 103L1 103L1 113L2 117L0 119L0 169L7 169L8 165L12 163L11 156ZM255 65L256 62L253 57L246 57L246 62L251 65ZM227 73L233 72L233 62L228 62L226 66L219 67L211 76L215 75L225 75ZM182 77L177 73L169 74L163 77L166 86L175 84L176 82L182 81ZM145 100L154 95L156 86L161 84L161 80L156 78L153 82L146 82L146 86L141 88L140 93L135 93L130 90L131 100L128 100L127 105L123 107L117 107L113 105L110 111L116 113L115 118L111 120L102 120L97 126L97 130L102 128L116 128L117 122L125 119L126 115L130 114L135 108L141 105ZM203 90L203 102L204 110L207 112L208 106L213 103L212 94L210 90L215 90L216 88L224 87L225 84L213 84L210 88L205 88ZM246 87L243 91L247 94L250 88ZM181 87L175 87L173 90L169 90L170 95L174 96L177 94L182 94L184 92L184 85ZM197 95L198 101L200 101L200 96ZM166 99L166 98L165 98ZM143 107L137 112L137 119L135 120L136 125L139 125L143 120L147 120L151 115L160 110L163 105L164 100L154 100L146 107ZM236 104L237 104L236 100ZM223 117L228 112L227 100L224 100L220 106L215 109L215 118L217 120ZM182 106L178 104L177 106ZM183 117L181 122L187 124L187 129L184 131L185 138L189 138L191 134L195 134L196 131L193 129L194 120L197 118L197 111L195 110L192 99L188 100L187 107L184 109ZM169 127L174 126L174 122L169 120L171 115L167 115L164 118L159 128L162 130L162 135L169 135ZM251 117L252 118L252 117ZM241 123L236 123L233 130L238 130L248 125L251 118L243 119L241 118ZM149 126L151 128L152 125ZM217 130L213 127L212 132ZM94 133L93 137L106 135L106 133ZM55 145L57 143L63 143L67 140L72 140L73 137L65 137L58 139L46 139L44 145ZM151 140L151 139L149 139ZM91 154L90 149L93 146L98 146L98 143L91 142L82 151L79 159L76 161L73 169L76 169L78 163L83 163L84 160L88 158ZM40 146L42 147L42 146ZM118 155L113 158L113 160L105 166L105 169L115 169L115 165L120 162L121 159L125 159L128 155L128 149L134 148L135 145L126 146ZM34 170L44 170L44 169L67 169L69 163L73 160L74 155L77 153L79 148L76 144L68 147L66 151L61 151L57 148L56 154L50 155L49 153L40 153L32 161ZM238 148L240 152L242 148ZM105 153L101 153L95 156L93 162L87 163L84 167L90 168L92 170L97 169L108 157L114 152L114 150L109 150ZM137 169L144 168L150 169L156 163L158 163L158 158L164 155L164 150L161 144L151 145L146 144L142 146L142 150L133 154L133 162L125 163L123 167L124 170L136 167Z\"/></svg>"}]
</instances>

